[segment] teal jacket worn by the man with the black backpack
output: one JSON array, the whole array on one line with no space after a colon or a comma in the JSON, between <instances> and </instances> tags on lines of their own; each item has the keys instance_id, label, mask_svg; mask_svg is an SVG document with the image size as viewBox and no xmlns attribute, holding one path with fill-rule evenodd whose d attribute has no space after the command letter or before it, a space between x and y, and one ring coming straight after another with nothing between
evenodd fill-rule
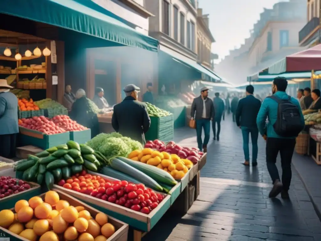
<instances>
[{"instance_id":1,"label":"teal jacket worn by the man with the black backpack","mask_svg":"<svg viewBox=\"0 0 321 241\"><path fill-rule=\"evenodd\" d=\"M281 99L287 99L289 98L289 95L286 94L283 91L277 91L275 94L275 96L281 98ZM297 105L300 111L300 116L301 116L301 122L304 125L304 117L301 111L301 107L300 107L300 103L297 99L291 97L290 100L293 104ZM260 131L260 134L263 136L265 134L265 121L266 121L266 117L268 117L268 124L267 124L267 137L272 137L272 138L285 138L285 137L281 137L279 135L277 135L274 131L273 128L273 124L276 122L277 119L277 113L278 113L278 103L274 100L272 100L271 98L265 98L265 100L263 101L260 111L257 114L256 117L256 124L257 127ZM290 138L296 138L296 136L294 137L290 137Z\"/></svg>"}]
</instances>

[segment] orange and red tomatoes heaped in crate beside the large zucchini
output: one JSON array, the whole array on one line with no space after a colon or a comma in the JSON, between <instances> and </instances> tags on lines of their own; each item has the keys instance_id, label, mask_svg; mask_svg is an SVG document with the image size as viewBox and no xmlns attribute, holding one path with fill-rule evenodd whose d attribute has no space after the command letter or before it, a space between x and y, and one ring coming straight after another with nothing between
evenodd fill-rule
<instances>
[{"instance_id":1,"label":"orange and red tomatoes heaped in crate beside the large zucchini","mask_svg":"<svg viewBox=\"0 0 321 241\"><path fill-rule=\"evenodd\" d=\"M86 174L85 171L58 184L145 214L155 209L165 197L142 183L134 184L124 180L111 182L100 176Z\"/></svg>"}]
</instances>

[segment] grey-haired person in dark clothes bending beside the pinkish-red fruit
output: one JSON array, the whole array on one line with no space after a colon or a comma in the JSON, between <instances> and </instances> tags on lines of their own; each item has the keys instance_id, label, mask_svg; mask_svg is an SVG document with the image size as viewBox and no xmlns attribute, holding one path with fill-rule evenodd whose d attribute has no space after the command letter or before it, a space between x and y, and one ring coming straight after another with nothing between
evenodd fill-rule
<instances>
[{"instance_id":1,"label":"grey-haired person in dark clothes bending beside the pinkish-red fruit","mask_svg":"<svg viewBox=\"0 0 321 241\"><path fill-rule=\"evenodd\" d=\"M77 90L76 101L72 106L69 116L80 125L90 128L91 138L94 138L99 134L99 122L97 114L91 108L89 101L90 100L86 97L86 92L83 89Z\"/></svg>"}]
</instances>

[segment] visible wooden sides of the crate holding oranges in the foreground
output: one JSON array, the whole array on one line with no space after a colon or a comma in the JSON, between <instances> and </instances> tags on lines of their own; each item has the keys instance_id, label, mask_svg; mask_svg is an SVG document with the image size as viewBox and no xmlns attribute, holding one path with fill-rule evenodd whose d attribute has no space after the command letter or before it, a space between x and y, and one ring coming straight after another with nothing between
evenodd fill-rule
<instances>
[{"instance_id":1,"label":"visible wooden sides of the crate holding oranges in the foreground","mask_svg":"<svg viewBox=\"0 0 321 241\"><path fill-rule=\"evenodd\" d=\"M65 200L68 201L70 203L70 205L77 207L77 206L83 206L87 211L90 212L92 217L95 217L97 213L99 213L100 211L97 209L92 208L91 206L83 203L82 201L79 201L77 199L75 199L74 197L61 192L60 190L56 190L53 189L53 191L58 192L60 200ZM42 199L44 199L46 193L42 193L41 195L39 195ZM14 206L14 203L12 203L11 206ZM14 211L14 208L12 208L11 210ZM111 216L108 216L108 223L114 225L116 231L115 233L109 237L106 241L127 241L127 237L128 237L128 224L123 223L122 221L119 221ZM23 241L28 241L28 239L25 239L23 237L20 237L12 232L10 232L8 229L6 228L2 228L0 227L0 230L2 231L1 233L6 233L6 237L10 237L12 238L12 240L23 240Z\"/></svg>"}]
</instances>

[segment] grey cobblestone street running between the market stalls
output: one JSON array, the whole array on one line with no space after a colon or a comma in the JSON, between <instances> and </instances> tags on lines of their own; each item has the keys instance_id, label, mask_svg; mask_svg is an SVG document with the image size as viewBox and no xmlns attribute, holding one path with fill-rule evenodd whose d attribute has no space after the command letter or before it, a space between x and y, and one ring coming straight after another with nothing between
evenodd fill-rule
<instances>
[{"instance_id":1,"label":"grey cobblestone street running between the market stalls","mask_svg":"<svg viewBox=\"0 0 321 241\"><path fill-rule=\"evenodd\" d=\"M231 119L226 115L221 122L219 142L211 133L200 195L191 209L183 217L167 213L143 240L320 241L320 220L295 169L291 201L269 199L265 142L259 137L257 167L241 165L242 134ZM175 132L175 139L183 146L197 146L195 135L195 130L183 128ZM280 161L278 168L281 172Z\"/></svg>"}]
</instances>

